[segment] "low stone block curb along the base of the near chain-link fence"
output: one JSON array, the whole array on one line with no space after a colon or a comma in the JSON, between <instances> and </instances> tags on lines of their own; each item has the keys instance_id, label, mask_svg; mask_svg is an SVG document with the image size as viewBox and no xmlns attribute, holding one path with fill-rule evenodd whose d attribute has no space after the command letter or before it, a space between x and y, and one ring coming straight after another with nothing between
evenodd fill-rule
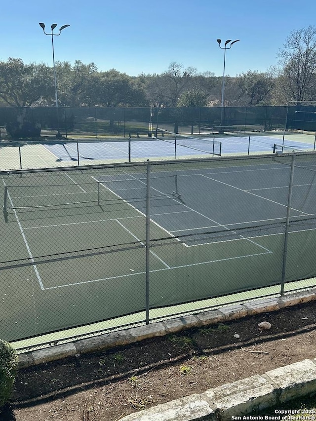
<instances>
[{"instance_id":1,"label":"low stone block curb along the base of the near chain-link fence","mask_svg":"<svg viewBox=\"0 0 316 421\"><path fill-rule=\"evenodd\" d=\"M246 304L224 306L219 310L209 310L195 315L186 315L136 328L110 332L104 335L70 342L68 344L51 346L49 348L19 354L18 368L22 369L43 362L74 356L76 354L85 354L113 348L115 346L132 344L144 339L164 336L192 327L223 323L247 315L275 311L287 306L308 303L314 300L316 300L316 288L308 291L296 292L279 298L265 298L263 300L249 301L246 302Z\"/></svg>"}]
</instances>

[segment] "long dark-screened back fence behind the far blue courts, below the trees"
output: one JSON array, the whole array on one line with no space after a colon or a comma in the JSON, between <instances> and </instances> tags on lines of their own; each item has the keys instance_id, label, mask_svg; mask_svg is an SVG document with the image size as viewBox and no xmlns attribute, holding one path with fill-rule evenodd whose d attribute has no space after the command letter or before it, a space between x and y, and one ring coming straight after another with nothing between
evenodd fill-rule
<instances>
[{"instance_id":1,"label":"long dark-screened back fence behind the far blue courts, below the trees","mask_svg":"<svg viewBox=\"0 0 316 421\"><path fill-rule=\"evenodd\" d=\"M0 107L0 138L283 130L287 107Z\"/></svg>"}]
</instances>

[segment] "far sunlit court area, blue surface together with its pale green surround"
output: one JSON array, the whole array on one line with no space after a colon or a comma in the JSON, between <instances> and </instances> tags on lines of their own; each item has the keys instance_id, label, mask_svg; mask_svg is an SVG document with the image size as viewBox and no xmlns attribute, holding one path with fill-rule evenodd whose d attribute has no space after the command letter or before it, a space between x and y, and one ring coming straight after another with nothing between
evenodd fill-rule
<instances>
[{"instance_id":1,"label":"far sunlit court area, blue surface together with its pale green surround","mask_svg":"<svg viewBox=\"0 0 316 421\"><path fill-rule=\"evenodd\" d=\"M91 137L46 142L1 141L0 169L273 153L282 152L283 146L295 151L313 151L315 136L297 132L231 133L222 136L204 133L188 136L157 129L151 138L134 135L130 138Z\"/></svg>"}]
</instances>

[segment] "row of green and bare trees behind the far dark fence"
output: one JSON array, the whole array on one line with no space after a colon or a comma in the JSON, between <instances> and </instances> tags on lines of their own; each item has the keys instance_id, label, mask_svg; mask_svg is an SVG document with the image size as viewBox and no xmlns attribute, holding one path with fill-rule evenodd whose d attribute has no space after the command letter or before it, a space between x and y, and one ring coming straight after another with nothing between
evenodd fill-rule
<instances>
[{"instance_id":1,"label":"row of green and bare trees behind the far dark fence","mask_svg":"<svg viewBox=\"0 0 316 421\"><path fill-rule=\"evenodd\" d=\"M316 27L294 30L278 66L225 78L225 106L287 105L316 100ZM161 74L131 77L94 63L56 63L58 104L65 107L205 107L221 105L222 77L172 62ZM52 67L0 61L0 106L54 106Z\"/></svg>"}]
</instances>

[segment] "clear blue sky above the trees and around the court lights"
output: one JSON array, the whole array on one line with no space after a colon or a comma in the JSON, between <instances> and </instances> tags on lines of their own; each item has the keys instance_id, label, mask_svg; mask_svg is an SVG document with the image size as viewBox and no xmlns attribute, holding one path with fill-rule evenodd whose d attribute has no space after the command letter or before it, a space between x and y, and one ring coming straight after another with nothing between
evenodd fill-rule
<instances>
[{"instance_id":1,"label":"clear blue sky above the trees and around the court lights","mask_svg":"<svg viewBox=\"0 0 316 421\"><path fill-rule=\"evenodd\" d=\"M217 38L240 39L226 75L265 72L291 31L315 24L315 0L10 0L1 5L0 60L52 65L39 22L69 24L54 37L55 60L94 62L130 76L162 73L172 61L223 73Z\"/></svg>"}]
</instances>

